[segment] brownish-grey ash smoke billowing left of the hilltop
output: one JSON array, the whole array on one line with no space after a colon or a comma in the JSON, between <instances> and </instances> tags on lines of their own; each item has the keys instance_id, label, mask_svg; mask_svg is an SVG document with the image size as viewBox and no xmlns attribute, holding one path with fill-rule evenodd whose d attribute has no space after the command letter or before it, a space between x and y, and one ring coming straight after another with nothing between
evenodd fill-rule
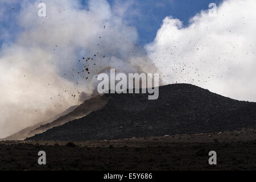
<instances>
[{"instance_id":1,"label":"brownish-grey ash smoke billowing left of the hilltop","mask_svg":"<svg viewBox=\"0 0 256 182\"><path fill-rule=\"evenodd\" d=\"M38 16L40 1L19 3L12 21L20 32L0 52L0 138L80 104L79 95L92 94L96 75L106 68L152 69L136 46L135 28L105 0L89 1L86 9L76 0L46 0L46 17ZM2 5L2 13L11 7Z\"/></svg>"}]
</instances>

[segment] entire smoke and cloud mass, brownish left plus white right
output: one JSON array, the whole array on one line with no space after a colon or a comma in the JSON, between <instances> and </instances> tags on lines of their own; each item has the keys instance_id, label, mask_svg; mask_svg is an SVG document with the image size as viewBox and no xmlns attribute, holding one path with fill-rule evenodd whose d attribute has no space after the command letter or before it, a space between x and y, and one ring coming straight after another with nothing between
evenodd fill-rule
<instances>
[{"instance_id":1,"label":"entire smoke and cloud mass, brownish left plus white right","mask_svg":"<svg viewBox=\"0 0 256 182\"><path fill-rule=\"evenodd\" d=\"M256 101L254 0L224 0L214 16L201 11L187 27L168 16L144 48L128 26L135 1L46 0L43 18L39 3L0 2L0 22L10 22L0 30L0 138L81 104L79 94L90 98L96 76L110 68Z\"/></svg>"}]
</instances>

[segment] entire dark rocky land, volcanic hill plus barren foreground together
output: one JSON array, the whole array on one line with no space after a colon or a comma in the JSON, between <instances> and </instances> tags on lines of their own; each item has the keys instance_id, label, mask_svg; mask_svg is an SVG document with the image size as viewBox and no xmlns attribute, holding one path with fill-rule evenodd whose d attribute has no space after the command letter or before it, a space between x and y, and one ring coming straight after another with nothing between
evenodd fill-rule
<instances>
[{"instance_id":1,"label":"entire dark rocky land, volcanic hill plus barren foreground together","mask_svg":"<svg viewBox=\"0 0 256 182\"><path fill-rule=\"evenodd\" d=\"M0 142L0 170L255 170L256 103L189 84L160 86L158 100L147 98L105 94L25 129L26 140Z\"/></svg>"}]
</instances>

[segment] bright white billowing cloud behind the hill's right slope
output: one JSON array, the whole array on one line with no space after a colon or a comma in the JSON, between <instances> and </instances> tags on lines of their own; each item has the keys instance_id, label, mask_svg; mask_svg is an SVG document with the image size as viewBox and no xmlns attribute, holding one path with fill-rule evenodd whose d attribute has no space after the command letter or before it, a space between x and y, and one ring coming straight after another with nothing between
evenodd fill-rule
<instances>
[{"instance_id":1,"label":"bright white billowing cloud behind the hill's right slope","mask_svg":"<svg viewBox=\"0 0 256 182\"><path fill-rule=\"evenodd\" d=\"M256 101L255 6L254 0L224 1L216 16L202 11L188 27L166 17L154 42L146 46L162 81Z\"/></svg>"}]
</instances>

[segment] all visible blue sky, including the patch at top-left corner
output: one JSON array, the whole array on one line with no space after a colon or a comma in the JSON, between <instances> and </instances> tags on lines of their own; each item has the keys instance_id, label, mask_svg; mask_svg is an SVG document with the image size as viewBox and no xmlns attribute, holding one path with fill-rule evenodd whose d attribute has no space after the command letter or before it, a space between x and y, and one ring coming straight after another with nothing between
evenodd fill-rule
<instances>
[{"instance_id":1,"label":"all visible blue sky, including the patch at top-left corner","mask_svg":"<svg viewBox=\"0 0 256 182\"><path fill-rule=\"evenodd\" d=\"M121 0L120 2L126 3L130 0ZM43 1L42 1L43 2ZM85 5L86 0L81 0L81 3ZM116 0L108 0L113 7ZM137 28L139 33L139 44L144 46L147 43L154 40L156 32L162 24L162 20L166 16L172 16L174 18L183 21L184 26L188 25L188 20L201 10L207 10L209 3L216 3L217 5L222 0L139 0L134 1L130 6L130 9L125 15L127 23L130 26ZM0 36L0 46L2 43L11 43L15 40L16 35L20 31L18 26L14 22L14 17L18 14L19 5L6 5L0 3L1 6L7 6L5 12L5 18L0 19L0 34L4 32L11 32L9 38L3 39ZM14 9L13 9L14 8Z\"/></svg>"}]
</instances>

